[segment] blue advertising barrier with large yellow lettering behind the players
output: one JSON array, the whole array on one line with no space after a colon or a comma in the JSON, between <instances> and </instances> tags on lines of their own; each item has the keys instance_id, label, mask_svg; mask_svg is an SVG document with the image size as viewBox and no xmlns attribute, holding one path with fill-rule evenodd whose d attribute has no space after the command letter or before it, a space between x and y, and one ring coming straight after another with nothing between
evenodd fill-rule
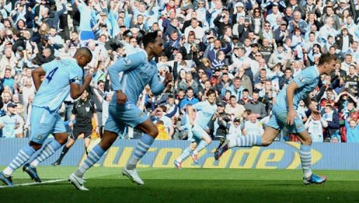
<instances>
[{"instance_id":1,"label":"blue advertising barrier with large yellow lettering behind the players","mask_svg":"<svg viewBox=\"0 0 359 203\"><path fill-rule=\"evenodd\" d=\"M0 139L0 165L8 165L29 139ZM98 140L92 140L92 146ZM137 144L136 140L116 140L95 167L124 167ZM199 164L191 157L182 162L184 168L233 168L233 169L300 169L299 144L275 142L269 147L233 148L217 162L213 158L219 141L199 153ZM174 167L189 141L155 141L144 155L138 167ZM59 157L62 148L41 165L50 165ZM311 149L313 169L359 169L359 144L315 143ZM35 155L34 155L35 156ZM83 140L79 139L62 161L65 166L77 166L86 157Z\"/></svg>"}]
</instances>

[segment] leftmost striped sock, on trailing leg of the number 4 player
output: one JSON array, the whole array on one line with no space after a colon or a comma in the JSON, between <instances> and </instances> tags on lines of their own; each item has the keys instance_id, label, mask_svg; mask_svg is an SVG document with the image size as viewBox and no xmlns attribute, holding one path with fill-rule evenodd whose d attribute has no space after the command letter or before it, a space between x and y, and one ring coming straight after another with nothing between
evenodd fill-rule
<instances>
[{"instance_id":1,"label":"leftmost striped sock, on trailing leg of the number 4 player","mask_svg":"<svg viewBox=\"0 0 359 203\"><path fill-rule=\"evenodd\" d=\"M6 167L6 169L4 169L5 176L7 176L7 177L11 176L11 174L13 174L13 172L16 169L18 169L23 164L25 164L25 162L27 162L27 160L29 160L34 153L35 153L35 150L34 150L34 148L32 148L32 146L27 145L24 148L22 148L19 151L18 155L10 163L10 165L8 165L8 167Z\"/></svg>"}]
</instances>

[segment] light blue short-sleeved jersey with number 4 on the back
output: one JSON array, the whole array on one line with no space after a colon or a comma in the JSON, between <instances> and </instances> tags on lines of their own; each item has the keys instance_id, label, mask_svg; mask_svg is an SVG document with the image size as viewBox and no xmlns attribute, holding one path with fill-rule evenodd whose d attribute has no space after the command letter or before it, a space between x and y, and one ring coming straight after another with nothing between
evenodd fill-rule
<instances>
[{"instance_id":1,"label":"light blue short-sleeved jersey with number 4 on the back","mask_svg":"<svg viewBox=\"0 0 359 203\"><path fill-rule=\"evenodd\" d=\"M70 83L82 83L83 69L76 59L53 60L42 67L46 75L32 105L55 111L69 95Z\"/></svg>"}]
</instances>

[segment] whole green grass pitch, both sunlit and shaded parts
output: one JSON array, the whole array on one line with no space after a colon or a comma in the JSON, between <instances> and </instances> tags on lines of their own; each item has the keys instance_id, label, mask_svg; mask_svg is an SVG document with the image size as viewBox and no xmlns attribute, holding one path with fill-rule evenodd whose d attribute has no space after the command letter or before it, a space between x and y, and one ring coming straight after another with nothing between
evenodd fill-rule
<instances>
[{"instance_id":1,"label":"whole green grass pitch, both sunlit and shaded parts","mask_svg":"<svg viewBox=\"0 0 359 203\"><path fill-rule=\"evenodd\" d=\"M1 169L3 167L0 167ZM76 167L39 167L43 181L67 179ZM67 181L0 188L0 202L359 202L359 173L316 171L322 185L304 186L300 170L282 169L139 169L137 186L121 169L95 167L78 191ZM14 183L29 183L18 169Z\"/></svg>"}]
</instances>

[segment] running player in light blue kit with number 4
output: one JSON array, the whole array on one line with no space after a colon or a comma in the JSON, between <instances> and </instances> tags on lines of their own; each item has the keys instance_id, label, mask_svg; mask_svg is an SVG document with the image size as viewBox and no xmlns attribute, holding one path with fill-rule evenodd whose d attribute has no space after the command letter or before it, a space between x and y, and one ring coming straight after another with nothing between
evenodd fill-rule
<instances>
[{"instance_id":1,"label":"running player in light blue kit with number 4","mask_svg":"<svg viewBox=\"0 0 359 203\"><path fill-rule=\"evenodd\" d=\"M57 111L69 94L72 99L77 99L90 85L91 74L83 80L83 67L91 59L92 54L88 48L79 48L73 59L53 60L32 71L37 93L30 115L31 138L29 144L22 148L10 165L0 173L0 180L6 185L13 186L11 174L25 163L22 170L34 181L41 182L36 166L67 143L67 130ZM42 82L41 76L44 76ZM50 139L41 148L49 134L53 134L55 139ZM40 148L39 154L29 163L32 155Z\"/></svg>"}]
</instances>

